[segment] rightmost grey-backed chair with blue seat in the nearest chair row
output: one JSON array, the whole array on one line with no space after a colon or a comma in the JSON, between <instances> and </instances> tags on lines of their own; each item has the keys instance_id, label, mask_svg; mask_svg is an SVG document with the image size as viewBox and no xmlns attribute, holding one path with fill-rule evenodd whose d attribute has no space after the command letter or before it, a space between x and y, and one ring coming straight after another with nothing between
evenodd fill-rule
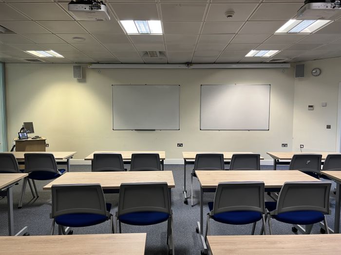
<instances>
[{"instance_id":1,"label":"rightmost grey-backed chair with blue seat in the nearest chair row","mask_svg":"<svg viewBox=\"0 0 341 255\"><path fill-rule=\"evenodd\" d=\"M278 201L265 202L270 235L272 234L270 219L288 224L305 225L305 234L310 234L313 224L323 221L329 234L325 215L330 214L330 187L330 182L284 183Z\"/></svg>"}]
</instances>

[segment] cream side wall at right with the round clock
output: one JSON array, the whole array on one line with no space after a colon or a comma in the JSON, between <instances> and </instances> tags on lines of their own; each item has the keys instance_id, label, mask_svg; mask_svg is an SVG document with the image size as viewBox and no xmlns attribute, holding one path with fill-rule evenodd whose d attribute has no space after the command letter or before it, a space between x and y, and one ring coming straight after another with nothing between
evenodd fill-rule
<instances>
[{"instance_id":1,"label":"cream side wall at right with the round clock","mask_svg":"<svg viewBox=\"0 0 341 255\"><path fill-rule=\"evenodd\" d=\"M295 79L295 103L293 121L293 151L303 152L337 150L337 126L339 82L341 82L341 58L308 61L305 77ZM314 77L313 68L321 68L321 75ZM327 102L326 107L321 103ZM308 111L308 104L314 105ZM326 129L331 125L331 129Z\"/></svg>"}]
</instances>

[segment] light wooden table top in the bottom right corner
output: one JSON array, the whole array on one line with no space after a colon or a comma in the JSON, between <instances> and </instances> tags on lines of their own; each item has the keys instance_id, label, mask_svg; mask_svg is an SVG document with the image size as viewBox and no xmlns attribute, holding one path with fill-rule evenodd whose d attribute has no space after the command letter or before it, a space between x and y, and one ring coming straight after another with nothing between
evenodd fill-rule
<instances>
[{"instance_id":1,"label":"light wooden table top in the bottom right corner","mask_svg":"<svg viewBox=\"0 0 341 255\"><path fill-rule=\"evenodd\" d=\"M341 254L341 234L208 236L211 255Z\"/></svg>"}]
</instances>

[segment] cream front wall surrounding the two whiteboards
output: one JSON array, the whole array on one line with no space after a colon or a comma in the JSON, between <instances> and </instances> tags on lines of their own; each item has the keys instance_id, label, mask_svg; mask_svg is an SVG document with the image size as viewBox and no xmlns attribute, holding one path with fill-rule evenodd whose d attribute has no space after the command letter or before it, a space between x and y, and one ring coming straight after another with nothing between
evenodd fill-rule
<instances>
[{"instance_id":1,"label":"cream front wall surrounding the two whiteboards","mask_svg":"<svg viewBox=\"0 0 341 255\"><path fill-rule=\"evenodd\" d=\"M165 150L168 159L181 159L182 151L251 151L267 159L268 151L291 151L293 68L83 71L77 81L68 64L6 64L9 141L33 121L49 151L77 151L78 159L95 150ZM180 84L180 131L113 131L112 84ZM200 131L201 84L271 84L270 130Z\"/></svg>"}]
</instances>

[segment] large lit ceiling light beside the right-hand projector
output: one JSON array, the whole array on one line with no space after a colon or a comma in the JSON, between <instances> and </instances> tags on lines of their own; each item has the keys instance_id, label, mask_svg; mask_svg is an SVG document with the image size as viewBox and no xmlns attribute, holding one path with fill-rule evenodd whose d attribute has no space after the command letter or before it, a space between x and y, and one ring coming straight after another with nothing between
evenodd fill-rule
<instances>
[{"instance_id":1,"label":"large lit ceiling light beside the right-hand projector","mask_svg":"<svg viewBox=\"0 0 341 255\"><path fill-rule=\"evenodd\" d=\"M328 24L331 20L316 20L316 19L290 19L286 22L275 34L310 34L322 26Z\"/></svg>"}]
</instances>

